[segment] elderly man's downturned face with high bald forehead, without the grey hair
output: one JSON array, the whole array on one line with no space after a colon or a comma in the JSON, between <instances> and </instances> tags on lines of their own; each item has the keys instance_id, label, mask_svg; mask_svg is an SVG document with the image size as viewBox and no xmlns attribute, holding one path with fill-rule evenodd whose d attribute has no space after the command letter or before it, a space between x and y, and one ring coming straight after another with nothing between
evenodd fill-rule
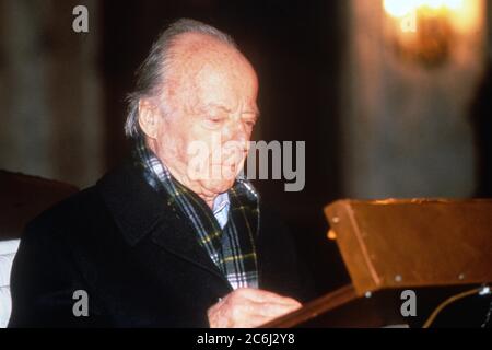
<instances>
[{"instance_id":1,"label":"elderly man's downturned face with high bald forehead, without the grey hair","mask_svg":"<svg viewBox=\"0 0 492 350\"><path fill-rule=\"evenodd\" d=\"M203 36L188 39L176 48L175 77L163 96L173 113L162 117L154 151L185 185L218 195L243 168L258 82L236 50Z\"/></svg>"}]
</instances>

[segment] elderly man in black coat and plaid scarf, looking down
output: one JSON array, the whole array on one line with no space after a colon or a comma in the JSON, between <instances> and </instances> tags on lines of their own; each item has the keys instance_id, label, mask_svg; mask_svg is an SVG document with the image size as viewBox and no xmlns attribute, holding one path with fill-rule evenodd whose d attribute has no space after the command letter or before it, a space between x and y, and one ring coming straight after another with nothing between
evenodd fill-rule
<instances>
[{"instance_id":1,"label":"elderly man in black coat and plaid scarf, looking down","mask_svg":"<svg viewBox=\"0 0 492 350\"><path fill-rule=\"evenodd\" d=\"M131 156L26 228L10 326L256 327L298 308L292 238L237 176L257 92L231 37L171 25L129 98Z\"/></svg>"}]
</instances>

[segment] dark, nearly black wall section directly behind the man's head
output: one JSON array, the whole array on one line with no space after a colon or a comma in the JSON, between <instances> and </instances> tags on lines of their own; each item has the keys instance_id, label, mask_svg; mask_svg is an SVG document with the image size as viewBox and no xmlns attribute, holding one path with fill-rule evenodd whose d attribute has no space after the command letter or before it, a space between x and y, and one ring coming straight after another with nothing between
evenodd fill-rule
<instances>
[{"instance_id":1,"label":"dark, nearly black wall section directly behind the man's head","mask_svg":"<svg viewBox=\"0 0 492 350\"><path fill-rule=\"evenodd\" d=\"M103 2L103 72L107 166L124 156L125 95L133 72L167 24L191 18L231 34L260 80L257 139L306 141L306 187L288 194L283 182L259 182L263 200L291 224L319 292L347 281L335 244L327 242L323 207L339 198L338 72L343 33L340 1Z\"/></svg>"}]
</instances>

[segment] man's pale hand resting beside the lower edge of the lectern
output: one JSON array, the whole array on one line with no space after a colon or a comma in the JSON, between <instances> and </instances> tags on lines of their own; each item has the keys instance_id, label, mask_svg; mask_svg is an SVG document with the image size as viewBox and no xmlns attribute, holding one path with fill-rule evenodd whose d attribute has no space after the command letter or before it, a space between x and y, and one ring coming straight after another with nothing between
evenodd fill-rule
<instances>
[{"instance_id":1,"label":"man's pale hand resting beside the lower edge of the lectern","mask_svg":"<svg viewBox=\"0 0 492 350\"><path fill-rule=\"evenodd\" d=\"M254 328L296 311L297 301L257 289L237 289L208 311L211 328Z\"/></svg>"}]
</instances>

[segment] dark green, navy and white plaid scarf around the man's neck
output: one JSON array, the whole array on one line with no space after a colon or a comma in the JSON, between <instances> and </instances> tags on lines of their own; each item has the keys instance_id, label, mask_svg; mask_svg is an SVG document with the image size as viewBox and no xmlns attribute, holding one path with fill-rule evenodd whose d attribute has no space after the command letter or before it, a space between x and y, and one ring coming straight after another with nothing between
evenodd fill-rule
<instances>
[{"instance_id":1,"label":"dark green, navy and white plaid scarf around the man's neck","mask_svg":"<svg viewBox=\"0 0 492 350\"><path fill-rule=\"evenodd\" d=\"M149 185L189 219L198 243L231 287L258 288L255 237L259 232L259 197L251 184L236 179L227 191L229 220L221 229L204 200L177 182L142 139L137 140L133 159Z\"/></svg>"}]
</instances>

